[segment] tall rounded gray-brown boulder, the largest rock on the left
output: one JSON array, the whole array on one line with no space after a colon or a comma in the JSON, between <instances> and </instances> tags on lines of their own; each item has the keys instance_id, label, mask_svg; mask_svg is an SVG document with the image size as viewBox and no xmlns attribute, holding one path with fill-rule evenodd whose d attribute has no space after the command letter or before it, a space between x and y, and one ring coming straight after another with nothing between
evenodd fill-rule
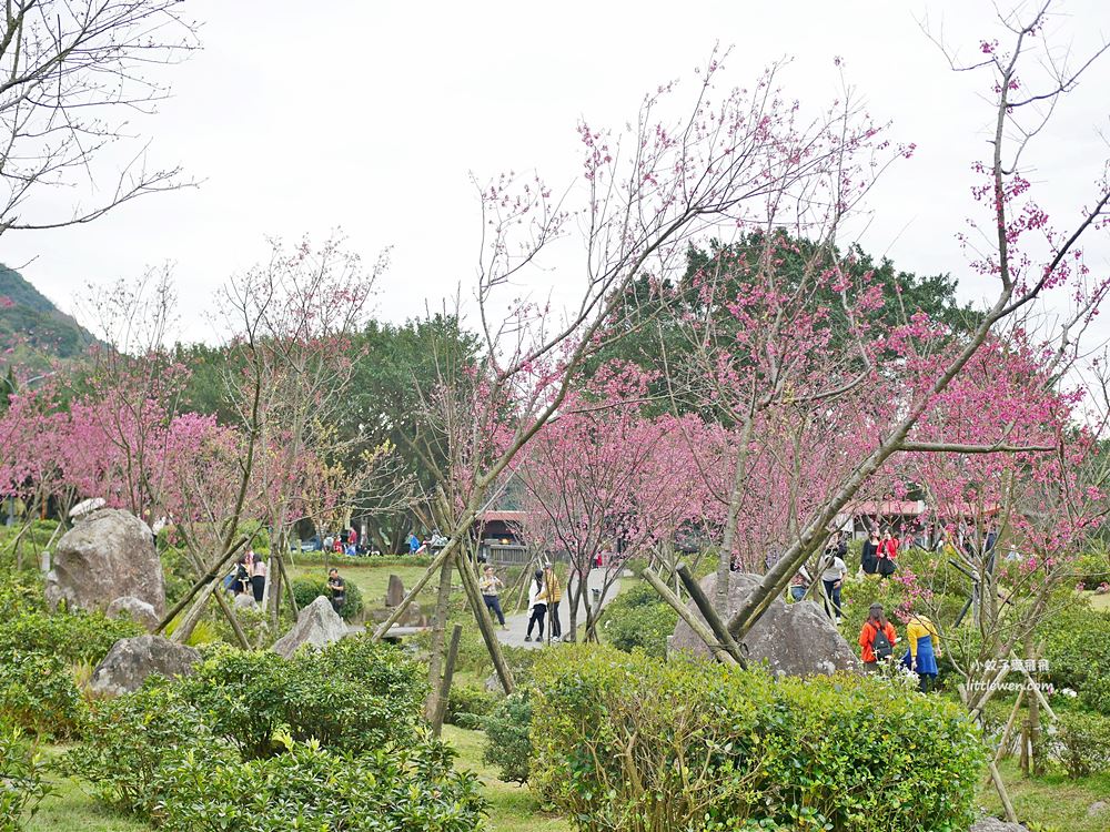
<instances>
[{"instance_id":1,"label":"tall rounded gray-brown boulder, the largest rock on the left","mask_svg":"<svg viewBox=\"0 0 1110 832\"><path fill-rule=\"evenodd\" d=\"M58 541L47 575L47 602L104 611L117 598L132 597L165 612L162 564L150 527L134 515L102 508L87 515Z\"/></svg>"}]
</instances>

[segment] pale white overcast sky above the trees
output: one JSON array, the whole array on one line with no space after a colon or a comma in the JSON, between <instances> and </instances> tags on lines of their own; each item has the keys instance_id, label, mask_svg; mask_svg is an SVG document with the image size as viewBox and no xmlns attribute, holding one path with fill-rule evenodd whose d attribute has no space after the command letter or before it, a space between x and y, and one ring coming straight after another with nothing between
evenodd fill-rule
<instances>
[{"instance_id":1,"label":"pale white overcast sky above the trees","mask_svg":"<svg viewBox=\"0 0 1110 832\"><path fill-rule=\"evenodd\" d=\"M1005 2L1005 0L1001 0ZM470 183L536 169L573 176L575 124L620 126L643 93L690 78L719 41L727 79L750 82L783 57L787 92L826 103L833 59L871 113L918 152L872 194L866 247L920 273L968 270L956 241L971 213L971 162L986 154L982 74L956 74L921 32L928 13L961 54L991 35L981 0L685 3L189 0L203 51L172 72L173 98L135 122L152 164L182 163L196 190L124 206L89 226L6 234L0 262L62 308L89 282L174 265L182 335L211 339L211 293L262 258L266 235L342 229L372 260L393 247L379 314L404 319L473 284L477 202ZM1051 33L1087 51L1110 38L1110 2L1063 0ZM1060 224L1083 203L1110 134L1110 55L1061 105L1028 161ZM52 194L49 200L58 200ZM52 202L30 205L48 210ZM1091 250L1110 268L1110 246ZM573 264L567 264L573 268ZM566 280L571 280L569 276ZM982 287L963 282L969 300Z\"/></svg>"}]
</instances>

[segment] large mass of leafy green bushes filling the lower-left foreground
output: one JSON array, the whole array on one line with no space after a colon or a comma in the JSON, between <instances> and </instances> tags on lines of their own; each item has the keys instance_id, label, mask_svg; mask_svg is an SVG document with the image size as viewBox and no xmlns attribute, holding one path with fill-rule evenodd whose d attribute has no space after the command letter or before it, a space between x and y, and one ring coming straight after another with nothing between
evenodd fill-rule
<instances>
[{"instance_id":1,"label":"large mass of leafy green bushes filling the lower-left foreground","mask_svg":"<svg viewBox=\"0 0 1110 832\"><path fill-rule=\"evenodd\" d=\"M194 677L93 703L62 770L164 830L482 828L478 783L420 723L424 671L395 647L205 652Z\"/></svg>"}]
</instances>

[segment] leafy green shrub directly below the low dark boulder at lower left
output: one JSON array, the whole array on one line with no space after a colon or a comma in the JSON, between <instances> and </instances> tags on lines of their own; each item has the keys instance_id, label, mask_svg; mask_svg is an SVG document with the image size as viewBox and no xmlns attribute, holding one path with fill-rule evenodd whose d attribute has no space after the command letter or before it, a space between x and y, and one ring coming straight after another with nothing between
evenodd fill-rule
<instances>
[{"instance_id":1,"label":"leafy green shrub directly below the low dark boulder at lower left","mask_svg":"<svg viewBox=\"0 0 1110 832\"><path fill-rule=\"evenodd\" d=\"M200 711L167 682L148 682L134 693L93 702L81 733L84 742L67 752L61 771L89 780L107 805L144 819L164 799L155 782L168 761L196 747L204 748L209 760L238 760L226 742L212 737Z\"/></svg>"}]
</instances>

